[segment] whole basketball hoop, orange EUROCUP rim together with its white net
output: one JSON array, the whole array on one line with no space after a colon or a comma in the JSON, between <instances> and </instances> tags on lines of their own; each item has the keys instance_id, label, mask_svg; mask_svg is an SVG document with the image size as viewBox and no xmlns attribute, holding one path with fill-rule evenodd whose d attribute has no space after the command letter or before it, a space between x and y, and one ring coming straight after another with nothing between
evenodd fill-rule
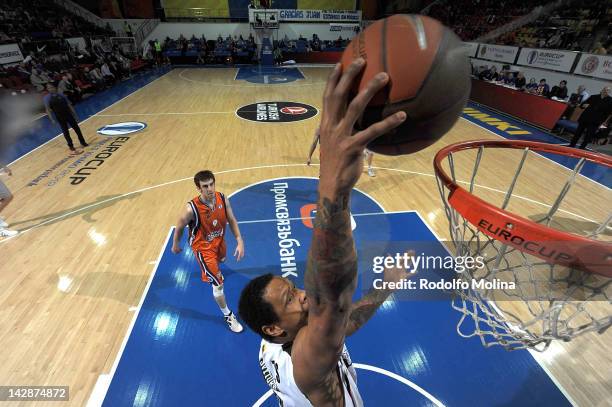
<instances>
[{"instance_id":1,"label":"whole basketball hoop, orange EUROCUP rim together with its white net","mask_svg":"<svg viewBox=\"0 0 612 407\"><path fill-rule=\"evenodd\" d=\"M479 191L491 189L475 183L485 150L490 149L519 150L504 150L504 160L517 163L516 171L510 171L507 190L499 191L504 192L504 199L498 206L475 192L475 187ZM577 159L556 199L546 203L547 213L535 220L508 209L511 198L516 197L513 192L521 185L519 176L530 152ZM468 164L464 164L466 159ZM478 336L486 347L543 351L552 340L569 341L590 331L603 333L612 325L612 212L585 235L551 226L587 162L607 171L612 167L612 158L601 154L530 141L468 141L449 145L436 154L434 169L456 256L482 257L484 264L459 277L476 283L454 292L452 306L462 314L457 324L459 335ZM458 181L457 171L469 182ZM539 179L546 175L538 174ZM610 200L607 202L609 205ZM609 211L610 207L601 209ZM496 282L508 284L496 286ZM508 288L509 283L515 288Z\"/></svg>"}]
</instances>

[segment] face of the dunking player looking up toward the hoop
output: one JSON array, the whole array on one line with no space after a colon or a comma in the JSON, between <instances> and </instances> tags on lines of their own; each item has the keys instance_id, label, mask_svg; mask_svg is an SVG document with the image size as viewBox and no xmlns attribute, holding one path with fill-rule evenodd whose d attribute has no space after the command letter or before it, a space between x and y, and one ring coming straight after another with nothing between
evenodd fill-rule
<instances>
[{"instance_id":1,"label":"face of the dunking player looking up toward the hoop","mask_svg":"<svg viewBox=\"0 0 612 407\"><path fill-rule=\"evenodd\" d=\"M272 305L278 315L278 322L264 326L264 332L282 339L283 342L292 341L308 323L306 291L296 288L291 280L274 277L268 283L263 298Z\"/></svg>"}]
</instances>

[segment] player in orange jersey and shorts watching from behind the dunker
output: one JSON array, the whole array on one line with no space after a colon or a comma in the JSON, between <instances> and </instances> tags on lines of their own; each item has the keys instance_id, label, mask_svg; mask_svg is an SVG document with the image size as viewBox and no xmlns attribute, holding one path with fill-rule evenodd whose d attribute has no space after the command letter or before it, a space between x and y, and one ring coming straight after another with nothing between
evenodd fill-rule
<instances>
[{"instance_id":1,"label":"player in orange jersey and shorts watching from behind the dunker","mask_svg":"<svg viewBox=\"0 0 612 407\"><path fill-rule=\"evenodd\" d=\"M225 225L236 237L238 245L234 251L236 260L244 256L244 242L240 236L238 222L225 195L215 191L215 176L211 171L200 171L194 177L200 195L187 203L174 229L172 253L181 251L181 236L185 226L189 228L189 244L202 271L202 281L212 285L213 296L221 308L225 322L232 332L242 332L242 325L227 307L223 294L223 274L219 263L225 261Z\"/></svg>"}]
</instances>

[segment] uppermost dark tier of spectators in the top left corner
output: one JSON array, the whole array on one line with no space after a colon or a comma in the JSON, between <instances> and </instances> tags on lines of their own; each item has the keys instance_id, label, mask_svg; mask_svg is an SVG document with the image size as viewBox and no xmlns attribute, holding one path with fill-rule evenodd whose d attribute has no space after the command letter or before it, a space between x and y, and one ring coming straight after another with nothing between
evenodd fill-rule
<instances>
[{"instance_id":1,"label":"uppermost dark tier of spectators in the top left corner","mask_svg":"<svg viewBox=\"0 0 612 407\"><path fill-rule=\"evenodd\" d=\"M3 0L0 3L0 44L76 36L114 35L69 14L52 1Z\"/></svg>"}]
</instances>

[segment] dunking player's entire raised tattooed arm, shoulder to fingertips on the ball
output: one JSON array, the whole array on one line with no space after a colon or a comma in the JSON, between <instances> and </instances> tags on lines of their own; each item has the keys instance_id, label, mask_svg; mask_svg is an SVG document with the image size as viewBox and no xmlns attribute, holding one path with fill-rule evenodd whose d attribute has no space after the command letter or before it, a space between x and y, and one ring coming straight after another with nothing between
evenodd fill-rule
<instances>
[{"instance_id":1,"label":"dunking player's entire raised tattooed arm, shoulder to fingertips on the ball","mask_svg":"<svg viewBox=\"0 0 612 407\"><path fill-rule=\"evenodd\" d=\"M308 325L293 342L293 374L314 405L340 405L342 384L336 363L342 352L357 280L357 254L350 224L350 192L363 170L365 146L401 124L403 112L353 134L370 99L389 77L379 74L349 103L350 89L365 65L354 61L344 73L339 64L323 97L320 127L319 200L304 284Z\"/></svg>"}]
</instances>

